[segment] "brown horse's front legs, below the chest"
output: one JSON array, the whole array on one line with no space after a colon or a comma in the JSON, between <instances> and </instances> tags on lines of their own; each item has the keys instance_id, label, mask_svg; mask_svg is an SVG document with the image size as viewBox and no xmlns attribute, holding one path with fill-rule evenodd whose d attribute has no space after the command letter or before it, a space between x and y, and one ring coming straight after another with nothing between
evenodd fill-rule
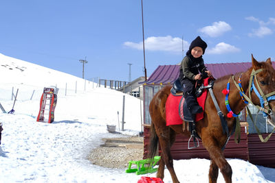
<instances>
[{"instance_id":1,"label":"brown horse's front legs, below the chest","mask_svg":"<svg viewBox=\"0 0 275 183\"><path fill-rule=\"evenodd\" d=\"M214 142L214 139L212 138L208 138L208 143L203 144L204 147L206 147L206 149L208 150L209 154L210 154L210 159L214 161L214 163L216 165L214 165L213 163L211 164L214 165L214 168L216 168L215 166L218 166L221 173L223 174L223 178L225 180L226 183L231 183L232 182L232 169L230 167L230 164L225 160L223 152L221 151L221 148L218 147L218 145ZM215 177L213 177L215 178ZM217 182L217 178L215 178L214 180L212 180L212 172L211 172L211 167L210 167L210 171L209 171L209 182Z\"/></svg>"}]
</instances>

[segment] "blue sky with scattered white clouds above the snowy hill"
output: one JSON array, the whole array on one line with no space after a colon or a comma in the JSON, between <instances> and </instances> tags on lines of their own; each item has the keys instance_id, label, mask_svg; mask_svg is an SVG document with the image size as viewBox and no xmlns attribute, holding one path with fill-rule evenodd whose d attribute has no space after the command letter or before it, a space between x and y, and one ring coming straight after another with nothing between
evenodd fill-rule
<instances>
[{"instance_id":1,"label":"blue sky with scattered white clouds above the snowy hill","mask_svg":"<svg viewBox=\"0 0 275 183\"><path fill-rule=\"evenodd\" d=\"M274 61L275 1L143 0L147 76L181 62L190 42L205 63ZM184 53L181 51L182 36ZM141 0L0 1L0 53L78 77L143 76Z\"/></svg>"}]
</instances>

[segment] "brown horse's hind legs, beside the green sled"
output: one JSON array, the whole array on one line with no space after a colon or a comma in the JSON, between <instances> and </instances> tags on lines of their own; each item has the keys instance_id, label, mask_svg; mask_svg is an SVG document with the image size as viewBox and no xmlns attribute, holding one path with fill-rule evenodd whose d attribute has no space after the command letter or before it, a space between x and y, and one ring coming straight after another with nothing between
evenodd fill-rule
<instances>
[{"instance_id":1,"label":"brown horse's hind legs, beside the green sled","mask_svg":"<svg viewBox=\"0 0 275 183\"><path fill-rule=\"evenodd\" d=\"M159 131L159 129L156 129ZM162 149L162 159L159 162L159 169L157 171L157 178L164 178L164 164L166 165L168 171L170 172L171 178L174 183L179 182L177 180L177 175L173 167L173 158L170 153L170 147L175 141L175 132L169 127L162 128L162 132L157 132L159 134L159 144Z\"/></svg>"}]
</instances>

